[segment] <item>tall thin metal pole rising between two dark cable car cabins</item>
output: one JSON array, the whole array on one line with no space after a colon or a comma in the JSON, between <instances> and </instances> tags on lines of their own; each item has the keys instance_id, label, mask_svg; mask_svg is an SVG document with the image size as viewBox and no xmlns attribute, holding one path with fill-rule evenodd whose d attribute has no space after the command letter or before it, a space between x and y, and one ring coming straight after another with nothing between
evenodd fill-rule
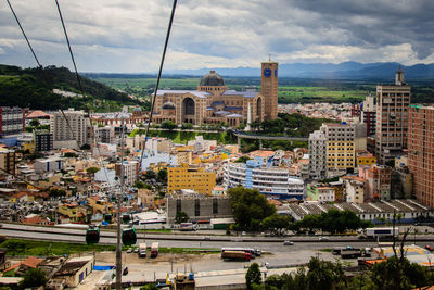
<instances>
[{"instance_id":1,"label":"tall thin metal pole rising between two dark cable car cabins","mask_svg":"<svg viewBox=\"0 0 434 290\"><path fill-rule=\"evenodd\" d=\"M120 192L117 194L116 290L122 286L120 206L124 193L124 116L120 119Z\"/></svg>"}]
</instances>

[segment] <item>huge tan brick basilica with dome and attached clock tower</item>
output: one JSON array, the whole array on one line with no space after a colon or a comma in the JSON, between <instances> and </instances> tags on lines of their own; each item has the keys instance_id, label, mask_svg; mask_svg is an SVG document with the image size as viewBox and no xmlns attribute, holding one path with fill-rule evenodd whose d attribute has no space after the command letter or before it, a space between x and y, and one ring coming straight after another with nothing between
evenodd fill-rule
<instances>
[{"instance_id":1,"label":"huge tan brick basilica with dome and attached clock tower","mask_svg":"<svg viewBox=\"0 0 434 290\"><path fill-rule=\"evenodd\" d=\"M210 71L196 90L158 90L152 121L201 124L229 124L277 118L278 63L261 63L261 90L228 90L224 78Z\"/></svg>"}]
</instances>

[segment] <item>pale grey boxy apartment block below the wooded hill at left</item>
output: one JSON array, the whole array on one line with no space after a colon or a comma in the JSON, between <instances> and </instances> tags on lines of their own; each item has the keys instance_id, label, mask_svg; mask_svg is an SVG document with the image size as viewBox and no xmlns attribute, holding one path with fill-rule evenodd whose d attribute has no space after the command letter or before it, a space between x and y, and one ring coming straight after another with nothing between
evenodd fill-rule
<instances>
[{"instance_id":1,"label":"pale grey boxy apartment block below the wooded hill at left","mask_svg":"<svg viewBox=\"0 0 434 290\"><path fill-rule=\"evenodd\" d=\"M54 148L76 148L87 142L87 125L84 111L72 109L55 112L50 118L50 133L53 134ZM66 117L66 118L65 118ZM77 140L77 142L75 141Z\"/></svg>"}]
</instances>

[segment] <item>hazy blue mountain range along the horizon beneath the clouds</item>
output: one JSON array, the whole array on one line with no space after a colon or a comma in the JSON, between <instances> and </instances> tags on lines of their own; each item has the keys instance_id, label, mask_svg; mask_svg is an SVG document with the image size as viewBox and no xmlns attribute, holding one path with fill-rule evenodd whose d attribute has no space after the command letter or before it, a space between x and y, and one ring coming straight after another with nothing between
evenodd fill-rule
<instances>
[{"instance_id":1,"label":"hazy blue mountain range along the horizon beneath the clouds","mask_svg":"<svg viewBox=\"0 0 434 290\"><path fill-rule=\"evenodd\" d=\"M400 65L406 78L430 79L434 78L434 63L416 64L411 66ZM358 63L343 62L333 63L292 63L279 64L280 77L301 77L301 78L345 78L345 79L391 79L394 78L395 71L399 67L399 63ZM193 75L202 76L216 70L224 76L234 77L259 77L259 67L233 67L233 68L215 68L205 67L199 70L171 70L165 71L167 75Z\"/></svg>"}]
</instances>

